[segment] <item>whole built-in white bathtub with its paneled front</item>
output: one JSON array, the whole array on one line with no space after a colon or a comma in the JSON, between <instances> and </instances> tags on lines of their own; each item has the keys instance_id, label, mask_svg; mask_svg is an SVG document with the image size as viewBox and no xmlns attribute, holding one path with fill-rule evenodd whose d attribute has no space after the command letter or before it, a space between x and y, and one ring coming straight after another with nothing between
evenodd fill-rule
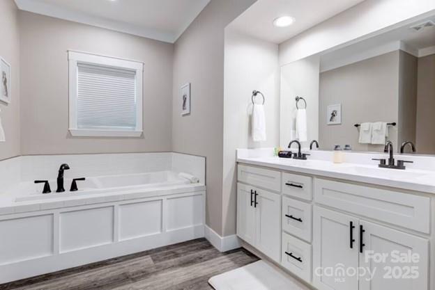
<instances>
[{"instance_id":1,"label":"whole built-in white bathtub with its paneled front","mask_svg":"<svg viewBox=\"0 0 435 290\"><path fill-rule=\"evenodd\" d=\"M33 178L0 194L0 284L204 237L206 186L178 171L86 177L75 192L66 178L64 193L52 179L47 194Z\"/></svg>"}]
</instances>

